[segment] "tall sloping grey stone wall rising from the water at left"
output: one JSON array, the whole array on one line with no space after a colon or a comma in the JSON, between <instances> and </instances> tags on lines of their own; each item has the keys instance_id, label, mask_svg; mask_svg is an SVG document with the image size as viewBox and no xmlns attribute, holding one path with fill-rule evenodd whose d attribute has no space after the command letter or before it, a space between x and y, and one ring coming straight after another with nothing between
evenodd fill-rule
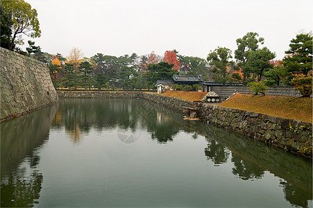
<instances>
[{"instance_id":1,"label":"tall sloping grey stone wall rising from the water at left","mask_svg":"<svg viewBox=\"0 0 313 208\"><path fill-rule=\"evenodd\" d=\"M3 48L0 58L1 121L58 101L46 64Z\"/></svg>"}]
</instances>

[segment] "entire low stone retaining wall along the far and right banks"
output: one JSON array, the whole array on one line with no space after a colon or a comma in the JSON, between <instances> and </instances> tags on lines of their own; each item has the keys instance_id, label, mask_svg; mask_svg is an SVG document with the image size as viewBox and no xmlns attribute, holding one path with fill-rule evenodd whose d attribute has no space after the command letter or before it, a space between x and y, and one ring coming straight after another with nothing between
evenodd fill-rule
<instances>
[{"instance_id":1,"label":"entire low stone retaining wall along the far and right banks","mask_svg":"<svg viewBox=\"0 0 313 208\"><path fill-rule=\"evenodd\" d=\"M208 103L194 103L160 94L144 92L58 92L60 98L144 98L153 103L164 105L177 112L184 112L184 107L196 107L198 117L208 123L242 135L263 141L299 153L304 148L312 147L312 123L282 119L276 116L220 107ZM303 155L310 157L310 155ZM311 157L312 158L312 157Z\"/></svg>"}]
</instances>

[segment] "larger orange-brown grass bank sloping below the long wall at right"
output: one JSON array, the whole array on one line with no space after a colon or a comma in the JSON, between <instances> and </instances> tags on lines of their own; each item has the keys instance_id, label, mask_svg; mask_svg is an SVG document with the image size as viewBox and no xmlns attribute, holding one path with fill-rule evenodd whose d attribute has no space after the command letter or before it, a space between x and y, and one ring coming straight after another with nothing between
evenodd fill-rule
<instances>
[{"instance_id":1,"label":"larger orange-brown grass bank sloping below the long wall at right","mask_svg":"<svg viewBox=\"0 0 313 208\"><path fill-rule=\"evenodd\" d=\"M219 106L312 123L312 98L236 94Z\"/></svg>"}]
</instances>

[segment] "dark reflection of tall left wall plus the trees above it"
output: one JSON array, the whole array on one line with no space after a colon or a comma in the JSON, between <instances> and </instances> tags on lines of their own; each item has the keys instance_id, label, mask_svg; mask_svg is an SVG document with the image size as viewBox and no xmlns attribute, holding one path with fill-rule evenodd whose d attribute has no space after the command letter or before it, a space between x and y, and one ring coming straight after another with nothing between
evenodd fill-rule
<instances>
[{"instance_id":1,"label":"dark reflection of tall left wall plus the trees above it","mask_svg":"<svg viewBox=\"0 0 313 208\"><path fill-rule=\"evenodd\" d=\"M1 123L1 207L33 207L43 176L37 148L49 139L57 106Z\"/></svg>"}]
</instances>

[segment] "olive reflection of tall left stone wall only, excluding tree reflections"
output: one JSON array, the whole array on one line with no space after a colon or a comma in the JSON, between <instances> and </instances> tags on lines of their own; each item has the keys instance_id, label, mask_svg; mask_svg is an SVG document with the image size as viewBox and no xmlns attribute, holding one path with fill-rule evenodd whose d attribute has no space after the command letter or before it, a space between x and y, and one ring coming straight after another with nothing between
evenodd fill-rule
<instances>
[{"instance_id":1,"label":"olive reflection of tall left stone wall only, excluding tree reflections","mask_svg":"<svg viewBox=\"0 0 313 208\"><path fill-rule=\"evenodd\" d=\"M49 139L49 128L58 106L52 105L1 123L1 178Z\"/></svg>"}]
</instances>

